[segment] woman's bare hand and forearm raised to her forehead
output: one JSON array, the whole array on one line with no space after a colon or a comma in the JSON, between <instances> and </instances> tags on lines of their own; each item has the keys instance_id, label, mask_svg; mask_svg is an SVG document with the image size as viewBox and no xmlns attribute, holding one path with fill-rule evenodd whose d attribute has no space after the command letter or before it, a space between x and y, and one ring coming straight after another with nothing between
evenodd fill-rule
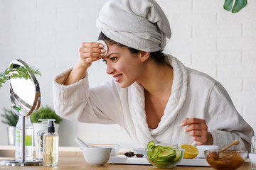
<instances>
[{"instance_id":1,"label":"woman's bare hand and forearm raised to her forehead","mask_svg":"<svg viewBox=\"0 0 256 170\"><path fill-rule=\"evenodd\" d=\"M74 84L75 82L80 81L80 79L83 79L85 77L87 68L90 67L92 62L100 60L105 56L106 50L103 48L103 46L104 45L98 42L82 42L79 49L79 60L75 64L75 67L73 67L64 84Z\"/></svg>"}]
</instances>

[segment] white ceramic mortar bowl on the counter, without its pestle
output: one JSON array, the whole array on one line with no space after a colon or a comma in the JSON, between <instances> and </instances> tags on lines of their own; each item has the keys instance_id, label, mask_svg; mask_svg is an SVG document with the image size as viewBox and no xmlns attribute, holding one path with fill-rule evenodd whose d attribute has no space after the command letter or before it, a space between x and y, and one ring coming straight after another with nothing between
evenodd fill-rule
<instances>
[{"instance_id":1,"label":"white ceramic mortar bowl on the counter, without its pestle","mask_svg":"<svg viewBox=\"0 0 256 170\"><path fill-rule=\"evenodd\" d=\"M87 164L103 166L110 159L112 147L82 147L81 149Z\"/></svg>"}]
</instances>

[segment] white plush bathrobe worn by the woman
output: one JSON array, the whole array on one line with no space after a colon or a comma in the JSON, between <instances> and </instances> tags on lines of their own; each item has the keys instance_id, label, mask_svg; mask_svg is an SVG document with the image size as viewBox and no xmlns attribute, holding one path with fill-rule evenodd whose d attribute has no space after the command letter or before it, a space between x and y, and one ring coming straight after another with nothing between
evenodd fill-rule
<instances>
[{"instance_id":1,"label":"white plush bathrobe worn by the woman","mask_svg":"<svg viewBox=\"0 0 256 170\"><path fill-rule=\"evenodd\" d=\"M102 86L90 88L88 74L84 79L63 85L71 69L53 79L55 112L68 120L81 123L117 123L127 131L138 147L150 140L158 143L191 144L192 137L180 123L185 118L206 120L213 136L213 145L220 148L239 140L235 149L250 149L253 130L235 110L227 91L206 74L184 67L168 55L174 68L171 96L158 127L150 130L146 123L144 89L134 83L120 88L114 79Z\"/></svg>"}]
</instances>

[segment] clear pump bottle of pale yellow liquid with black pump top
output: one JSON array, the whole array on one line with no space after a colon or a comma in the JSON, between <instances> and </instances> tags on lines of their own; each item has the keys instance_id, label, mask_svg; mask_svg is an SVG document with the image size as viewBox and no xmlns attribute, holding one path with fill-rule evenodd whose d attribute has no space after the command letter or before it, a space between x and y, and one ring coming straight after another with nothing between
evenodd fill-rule
<instances>
[{"instance_id":1,"label":"clear pump bottle of pale yellow liquid with black pump top","mask_svg":"<svg viewBox=\"0 0 256 170\"><path fill-rule=\"evenodd\" d=\"M54 120L48 120L48 132L43 134L43 166L58 166L58 134Z\"/></svg>"}]
</instances>

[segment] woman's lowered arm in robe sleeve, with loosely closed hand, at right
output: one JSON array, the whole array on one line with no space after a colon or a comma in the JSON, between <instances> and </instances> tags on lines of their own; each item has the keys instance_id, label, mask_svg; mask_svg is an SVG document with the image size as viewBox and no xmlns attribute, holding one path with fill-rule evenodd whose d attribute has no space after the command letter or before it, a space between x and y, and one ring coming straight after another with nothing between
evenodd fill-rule
<instances>
[{"instance_id":1,"label":"woman's lowered arm in robe sleeve, with loosely closed hand, at right","mask_svg":"<svg viewBox=\"0 0 256 170\"><path fill-rule=\"evenodd\" d=\"M228 146L239 140L237 149L250 149L253 130L236 111L228 92L215 83L210 91L203 118L186 118L181 122L197 145Z\"/></svg>"}]
</instances>

